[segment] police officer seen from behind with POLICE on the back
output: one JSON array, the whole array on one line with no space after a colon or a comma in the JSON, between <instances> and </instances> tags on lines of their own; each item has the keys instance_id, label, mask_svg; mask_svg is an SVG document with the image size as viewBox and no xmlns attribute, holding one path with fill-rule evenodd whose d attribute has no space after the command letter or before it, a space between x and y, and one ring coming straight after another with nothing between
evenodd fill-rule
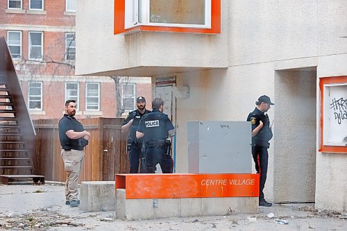
<instances>
[{"instance_id":1,"label":"police officer seen from behind with POLICE on the back","mask_svg":"<svg viewBox=\"0 0 347 231\"><path fill-rule=\"evenodd\" d=\"M153 111L145 114L137 127L136 137L144 137L146 173L154 173L159 163L162 173L172 173L171 142L167 139L175 135L175 129L164 110L164 101L155 98Z\"/></svg>"}]
</instances>

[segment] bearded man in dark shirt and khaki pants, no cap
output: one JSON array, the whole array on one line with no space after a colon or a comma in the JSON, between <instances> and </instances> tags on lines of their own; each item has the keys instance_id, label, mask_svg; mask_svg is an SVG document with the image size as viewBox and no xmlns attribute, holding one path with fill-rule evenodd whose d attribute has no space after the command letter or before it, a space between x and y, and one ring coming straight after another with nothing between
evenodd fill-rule
<instances>
[{"instance_id":1,"label":"bearded man in dark shirt and khaki pants, no cap","mask_svg":"<svg viewBox=\"0 0 347 231\"><path fill-rule=\"evenodd\" d=\"M78 200L78 178L83 165L83 148L88 144L90 132L87 132L82 123L75 119L76 101L65 102L65 114L58 123L60 145L62 146L62 160L67 172L65 182L66 205L77 207Z\"/></svg>"}]
</instances>

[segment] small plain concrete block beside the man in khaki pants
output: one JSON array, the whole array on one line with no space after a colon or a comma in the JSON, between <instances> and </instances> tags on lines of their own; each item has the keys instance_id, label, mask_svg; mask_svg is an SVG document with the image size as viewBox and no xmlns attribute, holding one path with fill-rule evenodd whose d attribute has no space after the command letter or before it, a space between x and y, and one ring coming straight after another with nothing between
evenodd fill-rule
<instances>
[{"instance_id":1,"label":"small plain concrete block beside the man in khaki pants","mask_svg":"<svg viewBox=\"0 0 347 231\"><path fill-rule=\"evenodd\" d=\"M80 209L85 212L115 210L115 181L81 182L80 200Z\"/></svg>"}]
</instances>

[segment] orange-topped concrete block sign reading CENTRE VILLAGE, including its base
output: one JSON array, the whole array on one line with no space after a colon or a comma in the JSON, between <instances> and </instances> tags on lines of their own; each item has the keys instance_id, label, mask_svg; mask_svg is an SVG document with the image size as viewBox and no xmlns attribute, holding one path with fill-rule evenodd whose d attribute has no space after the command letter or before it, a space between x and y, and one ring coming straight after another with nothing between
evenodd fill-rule
<instances>
[{"instance_id":1,"label":"orange-topped concrete block sign reading CENTRE VILLAGE, including its base","mask_svg":"<svg viewBox=\"0 0 347 231\"><path fill-rule=\"evenodd\" d=\"M257 212L257 174L116 174L116 218Z\"/></svg>"}]
</instances>

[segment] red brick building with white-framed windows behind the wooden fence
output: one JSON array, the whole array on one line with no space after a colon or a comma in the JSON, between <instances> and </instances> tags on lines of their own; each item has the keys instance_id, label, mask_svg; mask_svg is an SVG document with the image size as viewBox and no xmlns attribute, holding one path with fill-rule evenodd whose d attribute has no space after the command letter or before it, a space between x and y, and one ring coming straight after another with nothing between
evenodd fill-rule
<instances>
[{"instance_id":1,"label":"red brick building with white-framed windows behind the wooden fence","mask_svg":"<svg viewBox=\"0 0 347 231\"><path fill-rule=\"evenodd\" d=\"M151 102L150 78L74 76L75 16L76 0L0 1L0 37L31 118L60 118L67 99L76 99L79 118L124 115L139 95Z\"/></svg>"}]
</instances>

